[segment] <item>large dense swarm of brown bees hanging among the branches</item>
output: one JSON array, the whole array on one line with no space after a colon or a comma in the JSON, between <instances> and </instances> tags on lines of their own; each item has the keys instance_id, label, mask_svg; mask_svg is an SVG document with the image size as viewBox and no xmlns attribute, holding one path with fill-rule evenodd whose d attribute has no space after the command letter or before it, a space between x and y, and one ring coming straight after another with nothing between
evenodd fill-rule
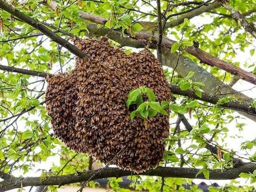
<instances>
[{"instance_id":1,"label":"large dense swarm of brown bees hanging among the branches","mask_svg":"<svg viewBox=\"0 0 256 192\"><path fill-rule=\"evenodd\" d=\"M143 172L162 160L169 117L158 114L145 122L125 105L128 93L151 88L156 100L169 101L163 69L147 49L125 54L108 38L74 39L88 57L76 58L70 73L48 79L46 102L54 133L76 152L89 153L105 164Z\"/></svg>"}]
</instances>

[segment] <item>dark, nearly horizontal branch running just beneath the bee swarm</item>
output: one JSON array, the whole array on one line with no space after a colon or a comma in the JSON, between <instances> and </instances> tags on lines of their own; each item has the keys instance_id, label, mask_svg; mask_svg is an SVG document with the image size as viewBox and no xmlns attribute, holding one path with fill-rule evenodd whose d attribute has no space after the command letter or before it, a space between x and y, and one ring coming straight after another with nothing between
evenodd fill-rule
<instances>
[{"instance_id":1,"label":"dark, nearly horizontal branch running just beneath the bee swarm","mask_svg":"<svg viewBox=\"0 0 256 192\"><path fill-rule=\"evenodd\" d=\"M215 169L210 170L209 179L227 180L239 177L241 172L249 173L256 169L256 164L248 163L238 168L229 170ZM205 179L203 174L196 177L196 173L200 169L193 168L180 168L180 167L157 167L156 169L143 172L140 175L159 176L159 177L176 177L176 178L197 178ZM135 173L133 173L135 174ZM96 180L109 177L123 177L131 175L130 171L121 170L118 168L103 168L102 170L91 170L80 173L74 173L63 176L50 176L50 177L26 177L26 178L13 178L9 181L0 182L0 191L11 190L20 188L22 183L23 187L26 186L48 186L48 185L66 185L70 183L83 182L87 180Z\"/></svg>"}]
</instances>

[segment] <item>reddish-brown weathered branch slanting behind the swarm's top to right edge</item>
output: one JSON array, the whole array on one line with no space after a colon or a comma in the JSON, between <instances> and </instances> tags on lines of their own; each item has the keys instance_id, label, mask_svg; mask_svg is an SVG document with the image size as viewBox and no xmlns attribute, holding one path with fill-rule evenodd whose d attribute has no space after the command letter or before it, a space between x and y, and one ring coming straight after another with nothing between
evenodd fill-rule
<instances>
[{"instance_id":1,"label":"reddish-brown weathered branch slanting behind the swarm's top to right edge","mask_svg":"<svg viewBox=\"0 0 256 192\"><path fill-rule=\"evenodd\" d=\"M88 15L90 15L90 17L88 19L90 19L90 21L93 21L92 14L90 14L90 13L84 14L84 12L79 12L79 16L84 20L87 20ZM99 21L99 16L97 16L97 20L95 20L93 22L95 22L97 24L103 24L106 22L106 19L102 18L101 21ZM129 36L132 36L129 31L126 31L125 33ZM147 42L149 37L150 37L150 34L148 32L139 31L132 38ZM152 43L157 44L157 41L158 41L158 35L154 35L154 38L152 38ZM163 37L162 45L164 47L171 49L171 47L174 43L175 43L175 41L168 39L166 37ZM184 50L186 52L188 52L189 54L195 56L196 58L198 58L201 62L203 62L205 64L220 68L220 69L227 71L231 74L239 76L241 79L243 79L245 81L248 81L248 82L256 85L256 75L254 75L250 72L247 72L239 67L236 67L235 65L232 65L232 64L228 63L227 61L220 60L220 59L204 52L203 50L201 50L199 48L196 48L193 46L188 46Z\"/></svg>"}]
</instances>

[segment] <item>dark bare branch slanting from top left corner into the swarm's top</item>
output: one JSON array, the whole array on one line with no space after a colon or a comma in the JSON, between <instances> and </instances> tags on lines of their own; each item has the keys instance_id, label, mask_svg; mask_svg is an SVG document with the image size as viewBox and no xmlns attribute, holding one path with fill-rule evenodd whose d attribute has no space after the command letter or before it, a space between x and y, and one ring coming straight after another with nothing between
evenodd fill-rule
<instances>
[{"instance_id":1,"label":"dark bare branch slanting from top left corner into the swarm's top","mask_svg":"<svg viewBox=\"0 0 256 192\"><path fill-rule=\"evenodd\" d=\"M0 0L0 8L3 9L6 12L9 12L13 16L17 17L18 19L24 21L28 25L31 25L32 27L38 29L42 33L44 33L46 36L52 39L52 41L60 44L61 46L68 49L70 52L75 54L76 56L83 58L86 57L86 54L76 48L76 46L72 45L65 39L61 38L60 36L57 36L53 31L45 27L42 23L40 23L38 20L34 20L31 17L28 17L27 15L23 14L22 12L18 11L11 5L5 3L3 0Z\"/></svg>"}]
</instances>

